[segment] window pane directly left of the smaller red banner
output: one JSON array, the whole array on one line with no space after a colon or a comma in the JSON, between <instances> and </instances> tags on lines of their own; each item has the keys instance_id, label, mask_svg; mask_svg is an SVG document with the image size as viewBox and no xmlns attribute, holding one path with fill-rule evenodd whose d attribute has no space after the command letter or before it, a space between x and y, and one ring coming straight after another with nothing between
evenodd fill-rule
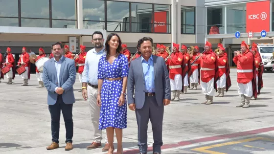
<instances>
[{"instance_id":1,"label":"window pane directly left of the smaller red banner","mask_svg":"<svg viewBox=\"0 0 274 154\"><path fill-rule=\"evenodd\" d=\"M131 31L152 32L152 4L131 3Z\"/></svg>"}]
</instances>

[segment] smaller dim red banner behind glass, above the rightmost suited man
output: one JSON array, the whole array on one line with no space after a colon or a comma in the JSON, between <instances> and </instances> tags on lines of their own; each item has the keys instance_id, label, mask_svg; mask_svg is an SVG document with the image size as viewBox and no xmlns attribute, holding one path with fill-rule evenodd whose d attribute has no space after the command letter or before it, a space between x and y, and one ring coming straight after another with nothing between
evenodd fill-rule
<instances>
[{"instance_id":1,"label":"smaller dim red banner behind glass, above the rightmost suited man","mask_svg":"<svg viewBox=\"0 0 274 154\"><path fill-rule=\"evenodd\" d=\"M166 15L166 11L154 12L154 32L167 33Z\"/></svg>"}]
</instances>

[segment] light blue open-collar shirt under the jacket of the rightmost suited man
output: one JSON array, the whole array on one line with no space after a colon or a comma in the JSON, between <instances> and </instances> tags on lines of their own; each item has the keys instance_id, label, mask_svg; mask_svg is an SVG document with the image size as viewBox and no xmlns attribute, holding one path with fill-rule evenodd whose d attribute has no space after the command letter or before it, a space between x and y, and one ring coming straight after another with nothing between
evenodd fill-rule
<instances>
[{"instance_id":1,"label":"light blue open-collar shirt under the jacket of the rightmost suited man","mask_svg":"<svg viewBox=\"0 0 274 154\"><path fill-rule=\"evenodd\" d=\"M142 56L142 66L143 66L143 73L145 78L145 92L155 92L155 85L154 85L154 67L153 67L153 58L152 55L146 61Z\"/></svg>"}]
</instances>

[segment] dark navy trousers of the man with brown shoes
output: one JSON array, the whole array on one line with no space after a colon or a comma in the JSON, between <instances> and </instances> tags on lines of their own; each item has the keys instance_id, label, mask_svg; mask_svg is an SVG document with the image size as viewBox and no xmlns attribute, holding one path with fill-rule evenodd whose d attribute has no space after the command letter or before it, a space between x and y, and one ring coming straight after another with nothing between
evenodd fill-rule
<instances>
[{"instance_id":1,"label":"dark navy trousers of the man with brown shoes","mask_svg":"<svg viewBox=\"0 0 274 154\"><path fill-rule=\"evenodd\" d=\"M60 115L63 113L65 127L66 127L66 143L72 143L73 136L73 121L72 121L72 106L73 104L65 104L62 95L58 95L57 101L54 105L49 105L48 110L51 117L51 135L52 142L59 143L60 130Z\"/></svg>"}]
</instances>

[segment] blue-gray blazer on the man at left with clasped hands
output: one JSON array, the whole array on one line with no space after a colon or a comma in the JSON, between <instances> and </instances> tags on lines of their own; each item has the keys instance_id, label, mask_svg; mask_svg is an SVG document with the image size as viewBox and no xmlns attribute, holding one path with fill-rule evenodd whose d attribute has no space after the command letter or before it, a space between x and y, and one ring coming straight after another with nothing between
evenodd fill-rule
<instances>
[{"instance_id":1,"label":"blue-gray blazer on the man at left with clasped hands","mask_svg":"<svg viewBox=\"0 0 274 154\"><path fill-rule=\"evenodd\" d=\"M73 60L63 56L62 64L60 68L59 80L57 78L57 72L55 68L54 58L45 62L43 68L43 82L47 89L47 104L54 105L57 101L58 94L55 92L55 88L60 86L65 89L62 94L62 98L65 104L75 103L73 84L76 79L76 68Z\"/></svg>"}]
</instances>

